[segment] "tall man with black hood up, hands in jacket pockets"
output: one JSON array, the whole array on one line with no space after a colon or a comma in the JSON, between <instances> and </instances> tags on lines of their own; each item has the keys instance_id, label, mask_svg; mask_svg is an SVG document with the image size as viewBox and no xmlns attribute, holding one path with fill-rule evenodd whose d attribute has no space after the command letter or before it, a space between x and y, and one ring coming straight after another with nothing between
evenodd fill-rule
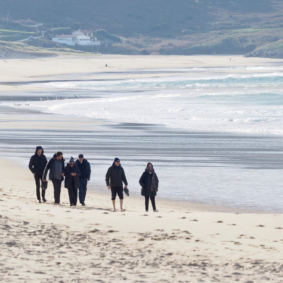
<instances>
[{"instance_id":1,"label":"tall man with black hood up, hands in jacket pockets","mask_svg":"<svg viewBox=\"0 0 283 283\"><path fill-rule=\"evenodd\" d=\"M47 164L47 159L45 155L43 154L44 151L42 147L38 146L35 149L35 154L31 156L31 159L29 160L29 170L33 173L33 177L35 179L35 186L36 186L36 196L37 196L37 202L41 203L40 200L40 181L42 181L42 176L44 172L44 168ZM42 201L46 203L45 199L45 190L42 189L41 191Z\"/></svg>"}]
</instances>

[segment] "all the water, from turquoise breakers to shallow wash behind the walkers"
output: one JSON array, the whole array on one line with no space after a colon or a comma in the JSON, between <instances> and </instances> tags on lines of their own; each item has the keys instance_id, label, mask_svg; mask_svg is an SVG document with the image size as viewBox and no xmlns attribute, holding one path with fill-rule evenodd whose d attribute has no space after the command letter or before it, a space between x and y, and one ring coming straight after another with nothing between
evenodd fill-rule
<instances>
[{"instance_id":1,"label":"all the water, from turquoise breakers to shallow wash behind the walkers","mask_svg":"<svg viewBox=\"0 0 283 283\"><path fill-rule=\"evenodd\" d=\"M55 148L65 158L85 152L93 170L90 185L99 188L117 156L136 196L138 179L151 161L160 180L158 197L283 212L282 65L108 74L123 78L53 76L29 83L50 91L3 95L0 109L19 120L70 117L82 125L86 120L109 124L71 133L1 130L2 155L27 162L39 144L48 158ZM92 80L82 79L91 75Z\"/></svg>"}]
</instances>

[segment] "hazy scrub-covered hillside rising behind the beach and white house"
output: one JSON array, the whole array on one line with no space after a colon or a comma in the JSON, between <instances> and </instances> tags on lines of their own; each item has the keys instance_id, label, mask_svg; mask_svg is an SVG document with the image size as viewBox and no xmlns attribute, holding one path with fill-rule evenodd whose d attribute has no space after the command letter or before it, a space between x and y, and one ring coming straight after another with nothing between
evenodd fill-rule
<instances>
[{"instance_id":1,"label":"hazy scrub-covered hillside rising behind the beach and white house","mask_svg":"<svg viewBox=\"0 0 283 283\"><path fill-rule=\"evenodd\" d=\"M49 30L106 30L117 40L102 53L283 58L278 0L1 0L0 6L3 27L9 13L9 20L30 18Z\"/></svg>"}]
</instances>

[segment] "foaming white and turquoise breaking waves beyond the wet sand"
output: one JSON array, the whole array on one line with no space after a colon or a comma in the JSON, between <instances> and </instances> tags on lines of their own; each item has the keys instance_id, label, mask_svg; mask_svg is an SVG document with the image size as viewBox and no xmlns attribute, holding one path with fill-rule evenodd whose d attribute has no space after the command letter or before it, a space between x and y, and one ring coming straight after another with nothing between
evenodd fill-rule
<instances>
[{"instance_id":1,"label":"foaming white and turquoise breaking waves beyond the wet sand","mask_svg":"<svg viewBox=\"0 0 283 283\"><path fill-rule=\"evenodd\" d=\"M85 117L187 130L283 134L283 66L258 72L262 68L191 68L175 70L189 74L169 77L39 83L34 85L70 93L61 100L45 95L49 101L30 106L67 115L79 107ZM78 93L87 100L79 100Z\"/></svg>"}]
</instances>

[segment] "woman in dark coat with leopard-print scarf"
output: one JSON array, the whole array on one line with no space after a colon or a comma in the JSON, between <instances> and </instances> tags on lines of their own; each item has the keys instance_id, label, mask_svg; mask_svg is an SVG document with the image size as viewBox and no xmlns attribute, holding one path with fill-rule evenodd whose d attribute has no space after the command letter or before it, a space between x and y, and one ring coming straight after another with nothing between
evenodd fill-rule
<instances>
[{"instance_id":1,"label":"woman in dark coat with leopard-print scarf","mask_svg":"<svg viewBox=\"0 0 283 283\"><path fill-rule=\"evenodd\" d=\"M141 195L145 197L145 211L148 212L149 198L154 212L158 212L155 207L155 196L158 191L158 178L150 162L147 163L145 171L138 181L141 185Z\"/></svg>"}]
</instances>

